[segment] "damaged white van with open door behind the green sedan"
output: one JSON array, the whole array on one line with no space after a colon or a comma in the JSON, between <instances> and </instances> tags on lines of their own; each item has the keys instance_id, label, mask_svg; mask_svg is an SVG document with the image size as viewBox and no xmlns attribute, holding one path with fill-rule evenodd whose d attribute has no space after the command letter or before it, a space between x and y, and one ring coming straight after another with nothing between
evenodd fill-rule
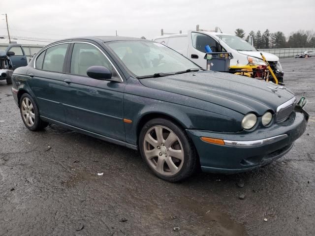
<instances>
[{"instance_id":1,"label":"damaged white van with open door behind the green sedan","mask_svg":"<svg viewBox=\"0 0 315 236\"><path fill-rule=\"evenodd\" d=\"M209 45L213 52L232 53L233 59L230 65L262 64L260 51L238 36L216 31L193 31L188 34L167 34L154 38L156 42L162 43L185 57L189 58L202 68L206 69L205 46ZM276 55L264 53L264 57L270 64L279 82L283 83L284 72Z\"/></svg>"}]
</instances>

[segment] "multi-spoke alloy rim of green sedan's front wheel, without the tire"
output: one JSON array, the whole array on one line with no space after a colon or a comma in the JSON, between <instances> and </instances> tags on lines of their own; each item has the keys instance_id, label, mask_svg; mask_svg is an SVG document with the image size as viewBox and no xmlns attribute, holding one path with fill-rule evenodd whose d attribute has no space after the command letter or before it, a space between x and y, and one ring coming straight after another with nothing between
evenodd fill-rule
<instances>
[{"instance_id":1,"label":"multi-spoke alloy rim of green sedan's front wheel, without the tire","mask_svg":"<svg viewBox=\"0 0 315 236\"><path fill-rule=\"evenodd\" d=\"M161 125L153 126L144 139L145 157L153 169L164 176L173 176L181 170L184 149L172 130Z\"/></svg>"}]
</instances>

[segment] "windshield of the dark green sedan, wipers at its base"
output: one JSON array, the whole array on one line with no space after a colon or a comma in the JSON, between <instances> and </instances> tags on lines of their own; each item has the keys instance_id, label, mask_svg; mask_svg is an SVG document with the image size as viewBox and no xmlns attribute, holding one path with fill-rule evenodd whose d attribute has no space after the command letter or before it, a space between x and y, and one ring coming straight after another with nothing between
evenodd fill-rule
<instances>
[{"instance_id":1,"label":"windshield of the dark green sedan, wipers at its base","mask_svg":"<svg viewBox=\"0 0 315 236\"><path fill-rule=\"evenodd\" d=\"M137 77L199 68L183 55L157 42L113 41L106 46Z\"/></svg>"}]
</instances>

